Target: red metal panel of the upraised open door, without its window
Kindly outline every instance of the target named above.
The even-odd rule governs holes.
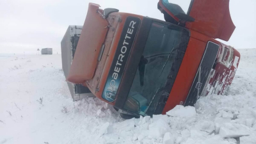
[[[229,0],[194,0],[189,13],[195,22],[187,22],[193,29],[211,38],[228,41],[236,26],[229,12]]]

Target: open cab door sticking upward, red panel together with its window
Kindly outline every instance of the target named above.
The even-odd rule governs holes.
[[[186,15],[172,0],[160,0],[159,6],[177,22],[185,21],[186,28],[211,38],[228,41],[236,28],[230,17],[229,0],[192,0]]]

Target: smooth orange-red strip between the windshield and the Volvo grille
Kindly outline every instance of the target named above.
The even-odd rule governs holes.
[[[173,84],[172,92],[164,106],[163,114],[173,109],[176,105],[179,105],[180,102],[185,102],[204,54],[205,46],[205,42],[196,40],[195,38],[189,39],[188,48]]]

